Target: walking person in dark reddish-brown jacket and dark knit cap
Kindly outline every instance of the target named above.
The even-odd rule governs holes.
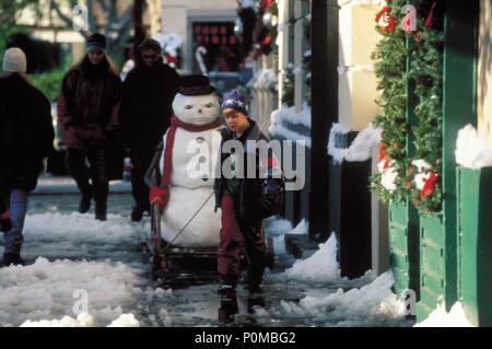
[[[95,219],[101,221],[106,220],[108,197],[107,139],[120,127],[121,93],[121,80],[105,49],[104,35],[89,37],[86,55],[67,72],[58,97],[58,119],[66,130],[67,166],[81,191],[79,212],[89,212],[94,198]]]

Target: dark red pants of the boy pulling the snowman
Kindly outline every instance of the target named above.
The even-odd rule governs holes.
[[[261,221],[254,224],[239,224],[234,200],[227,191],[222,196],[221,210],[219,274],[235,284],[241,272],[241,254],[244,253],[248,261],[248,284],[251,288],[258,287],[266,267],[265,234]]]

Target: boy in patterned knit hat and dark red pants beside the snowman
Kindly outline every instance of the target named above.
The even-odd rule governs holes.
[[[222,130],[221,174],[215,179],[215,207],[222,210],[218,260],[222,278],[220,294],[229,298],[234,294],[237,283],[242,253],[249,265],[249,292],[255,294],[259,291],[266,267],[261,221],[279,212],[283,177],[271,149],[260,151],[261,147],[268,147],[268,138],[247,117],[244,96],[234,90],[224,98],[222,109],[227,128]],[[224,148],[229,141],[241,143],[243,151],[235,147],[234,151],[225,152],[225,149],[232,149]],[[248,172],[250,164],[255,164],[256,168]]]

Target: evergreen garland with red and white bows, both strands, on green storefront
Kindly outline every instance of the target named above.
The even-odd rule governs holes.
[[[429,16],[436,1],[413,1],[418,13],[423,16],[418,19],[417,33],[407,34],[398,27],[405,16],[400,10],[406,3],[405,0],[388,3],[389,13],[395,19],[395,27],[383,31],[383,39],[373,54],[378,90],[382,91],[377,100],[380,110],[374,124],[383,128],[383,135],[380,171],[372,176],[371,189],[386,203],[410,199],[421,213],[427,214],[440,211],[443,199],[441,178],[444,34],[438,25],[443,13]],[[410,51],[406,46],[408,35],[412,35]],[[411,59],[409,71],[406,72],[408,55]],[[414,107],[415,125],[411,127],[406,118],[408,79],[414,81],[418,101]],[[413,156],[407,153],[406,143],[409,136],[414,139]],[[388,187],[388,181],[386,187],[382,184],[387,171],[393,175],[393,187]]]

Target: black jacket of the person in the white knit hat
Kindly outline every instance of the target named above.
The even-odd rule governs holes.
[[[51,106],[19,74],[0,79],[0,185],[33,190],[43,158],[52,152]]]

